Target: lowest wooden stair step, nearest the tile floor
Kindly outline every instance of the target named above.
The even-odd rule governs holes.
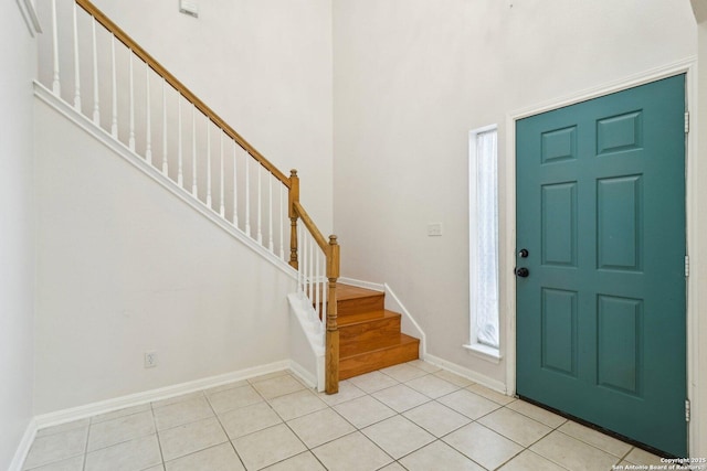
[[[400,334],[400,342],[339,358],[339,379],[418,360],[420,340]]]

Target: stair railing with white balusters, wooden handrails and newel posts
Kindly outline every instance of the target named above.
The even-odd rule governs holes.
[[[339,246],[302,206],[297,172],[281,172],[91,1],[59,7],[51,0],[39,12],[52,25],[40,38],[39,82],[283,261],[289,226],[298,288],[319,312],[326,307],[326,392],[336,393]],[[299,246],[312,260],[324,256],[325,282],[314,261],[299,263]]]

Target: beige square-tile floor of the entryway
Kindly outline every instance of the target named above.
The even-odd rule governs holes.
[[[421,361],[316,394],[283,371],[40,430],[33,471],[611,470],[659,458]]]

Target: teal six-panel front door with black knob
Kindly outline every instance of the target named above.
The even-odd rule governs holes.
[[[518,120],[517,393],[687,456],[685,76]]]

